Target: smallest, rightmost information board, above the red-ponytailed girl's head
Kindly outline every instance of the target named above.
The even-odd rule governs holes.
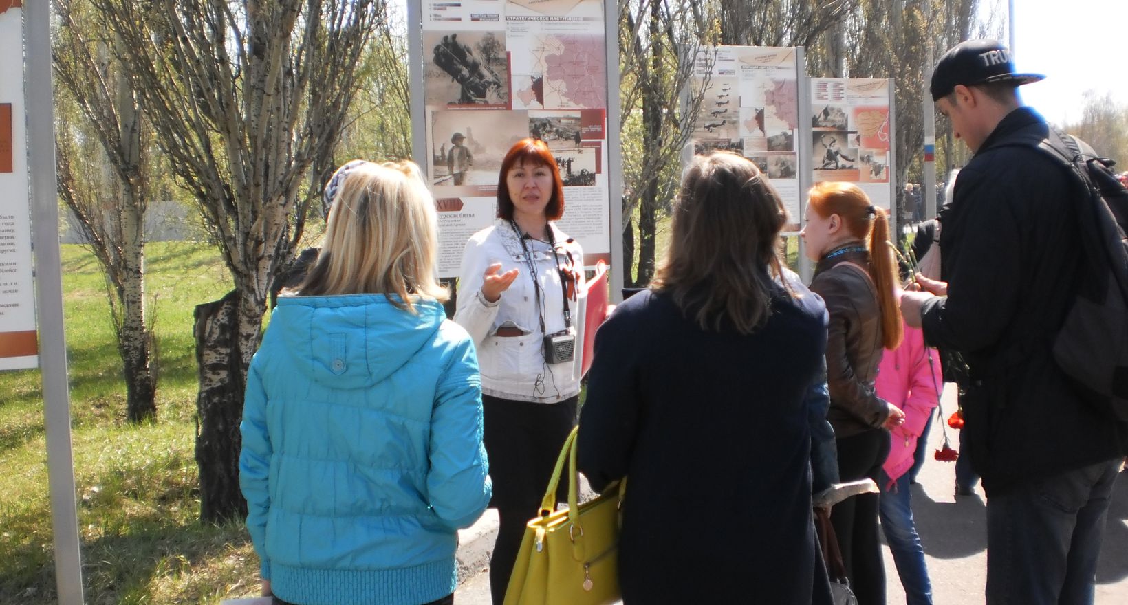
[[[854,183],[892,207],[892,94],[884,79],[811,78],[812,183]]]

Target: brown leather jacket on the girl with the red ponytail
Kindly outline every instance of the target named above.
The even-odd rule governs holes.
[[[843,438],[880,428],[889,406],[873,390],[881,346],[881,311],[867,273],[870,252],[861,243],[835,248],[814,267],[811,291],[822,296],[830,313],[827,328],[827,385],[830,411],[827,419],[835,437]]]

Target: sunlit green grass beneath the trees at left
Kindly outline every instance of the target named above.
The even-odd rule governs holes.
[[[156,422],[125,424],[125,388],[106,286],[94,257],[62,250],[74,480],[90,604],[211,604],[257,594],[241,523],[197,521],[194,305],[231,287],[218,252],[151,243],[148,292],[160,384]],[[0,603],[54,603],[38,371],[0,373]]]

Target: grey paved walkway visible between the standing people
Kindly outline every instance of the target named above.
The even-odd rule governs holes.
[[[943,403],[945,413],[955,410],[955,390],[951,385],[944,392]],[[949,429],[949,437],[954,447],[957,431]],[[931,456],[943,443],[936,421],[928,442]],[[935,605],[982,603],[987,581],[987,523],[982,491],[978,490],[973,497],[957,499],[953,493],[954,463],[932,457],[917,479],[920,484],[914,486],[913,510],[924,543]],[[493,545],[494,534],[491,533],[488,518],[478,525],[474,535],[479,537],[464,537],[459,549],[460,559],[464,552],[473,551],[473,557],[467,559],[473,558],[475,564],[468,566],[472,569],[467,569],[465,584],[456,593],[458,605],[490,605],[488,573],[484,569],[488,564],[487,552]],[[888,604],[898,605],[905,603],[905,593],[889,549],[884,551]],[[1128,605],[1128,471],[1122,472],[1117,481],[1096,582],[1096,605]]]

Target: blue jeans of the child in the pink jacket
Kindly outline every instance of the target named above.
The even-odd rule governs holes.
[[[889,475],[881,471],[881,531],[893,554],[897,575],[905,588],[907,605],[932,605],[932,582],[924,562],[924,546],[913,523],[909,474],[905,473],[890,488]]]

